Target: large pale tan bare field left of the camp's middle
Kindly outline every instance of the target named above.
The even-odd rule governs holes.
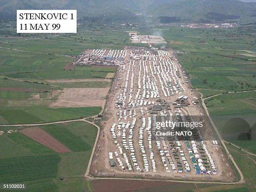
[[[95,107],[104,108],[110,88],[65,88],[51,108]]]

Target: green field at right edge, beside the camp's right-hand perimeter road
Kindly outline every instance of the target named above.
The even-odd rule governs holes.
[[[218,126],[223,138],[254,154],[256,153],[255,131],[252,134],[254,141],[238,141],[238,136],[247,133],[255,123],[256,102],[253,99],[255,97],[256,92],[229,93],[205,101],[212,120]],[[234,121],[234,118],[237,120]],[[237,123],[230,125],[228,123],[230,121]],[[239,126],[240,123],[243,123],[243,126]]]

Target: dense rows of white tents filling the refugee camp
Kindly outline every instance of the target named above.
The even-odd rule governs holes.
[[[126,54],[127,50],[110,50],[108,56],[116,58],[125,57]],[[115,95],[115,115],[118,123],[113,123],[110,127],[114,145],[118,150],[111,152],[111,158],[116,159],[123,171],[152,172],[153,170],[157,173],[159,168],[156,168],[155,159],[159,157],[153,152],[153,145],[156,145],[166,173],[189,174],[194,166],[196,174],[217,174],[216,166],[199,129],[193,129],[198,142],[192,137],[187,139],[192,140],[191,142],[185,141],[188,152],[177,136],[170,141],[156,134],[158,131],[156,120],[159,114],[162,122],[166,119],[188,121],[187,117],[191,117],[188,108],[178,107],[172,112],[169,103],[160,98],[160,95],[170,97],[186,92],[180,80],[179,69],[170,57],[170,53],[152,49],[132,49],[130,58],[130,61],[119,68],[119,71],[123,72],[123,77],[119,77],[118,80],[123,79],[123,84],[118,86],[117,89],[121,90]],[[188,100],[188,96],[182,95],[180,99]],[[150,114],[154,115],[149,116]],[[166,130],[165,127],[161,129]],[[134,134],[136,138],[133,137]],[[135,143],[136,148],[134,141],[138,142]]]

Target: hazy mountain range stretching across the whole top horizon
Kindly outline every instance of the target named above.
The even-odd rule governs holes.
[[[165,22],[215,22],[255,16],[256,0],[1,0],[0,20],[15,20],[17,9],[77,9],[78,17],[105,22],[138,19],[138,13]]]

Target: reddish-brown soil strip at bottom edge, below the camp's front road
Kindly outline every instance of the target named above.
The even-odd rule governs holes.
[[[93,180],[92,185],[95,192],[132,192],[135,190],[151,189],[154,187],[170,186],[175,182],[165,181],[140,181],[140,180],[116,180],[116,179],[99,179]],[[149,191],[151,191],[149,190]]]

